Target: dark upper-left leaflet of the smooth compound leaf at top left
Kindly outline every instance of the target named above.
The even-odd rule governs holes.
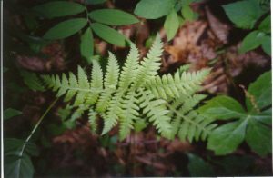
[[[69,1],[53,1],[33,7],[33,10],[45,18],[76,15],[83,12],[85,6]]]

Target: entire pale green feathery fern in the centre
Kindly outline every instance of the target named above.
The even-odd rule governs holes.
[[[136,45],[131,44],[121,72],[115,55],[109,53],[106,74],[103,75],[100,64],[94,61],[91,81],[80,66],[77,76],[69,73],[68,77],[62,74],[42,78],[49,88],[57,91],[57,97],[65,95],[65,101],[71,101],[76,96],[74,119],[87,110],[91,127],[96,131],[96,119],[103,118],[102,134],[119,124],[119,136],[123,140],[136,122],[142,120],[155,125],[169,139],[176,135],[181,140],[205,139],[216,124],[198,115],[194,108],[204,98],[196,92],[209,70],[159,76],[162,48],[157,36],[147,57],[139,63]]]

